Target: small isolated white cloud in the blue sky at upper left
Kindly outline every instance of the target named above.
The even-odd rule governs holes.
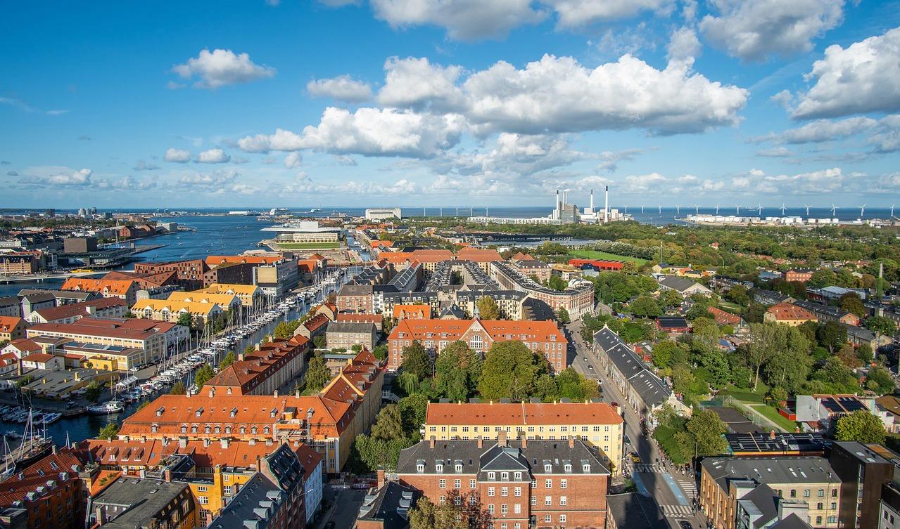
[[[275,75],[275,68],[254,64],[247,53],[236,54],[230,49],[202,49],[197,57],[173,66],[172,71],[184,79],[195,78],[194,88],[213,89]]]

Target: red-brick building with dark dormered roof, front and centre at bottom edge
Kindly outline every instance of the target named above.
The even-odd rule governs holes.
[[[574,438],[422,441],[401,451],[397,475],[436,504],[454,491],[476,493],[495,529],[604,527],[609,471],[601,461]]]

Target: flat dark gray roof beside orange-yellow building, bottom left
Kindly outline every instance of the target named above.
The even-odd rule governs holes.
[[[121,477],[92,500],[94,507],[106,509],[106,516],[115,516],[103,526],[146,526],[148,521],[166,505],[187,489],[187,484],[177,481],[159,481]]]

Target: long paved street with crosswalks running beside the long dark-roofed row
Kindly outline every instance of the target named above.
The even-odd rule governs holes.
[[[624,411],[625,434],[630,443],[626,443],[623,452],[626,458],[620,463],[625,464],[638,492],[656,500],[663,516],[669,520],[674,529],[679,529],[678,520],[688,520],[697,529],[706,527],[702,516],[695,516],[691,509],[691,503],[698,493],[692,477],[662,463],[664,458],[661,451],[651,439],[644,436],[637,413],[625,401],[616,385],[608,380],[590,346],[581,339],[581,322],[568,325],[567,331],[574,345],[574,349],[570,351],[570,365],[581,375],[598,380],[603,400],[618,402]],[[632,452],[640,456],[642,463],[635,464],[630,461],[627,455]]]

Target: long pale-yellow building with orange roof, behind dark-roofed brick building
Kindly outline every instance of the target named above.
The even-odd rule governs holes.
[[[622,461],[625,421],[606,402],[428,403],[423,439],[563,440],[575,436],[599,448],[616,475]]]

